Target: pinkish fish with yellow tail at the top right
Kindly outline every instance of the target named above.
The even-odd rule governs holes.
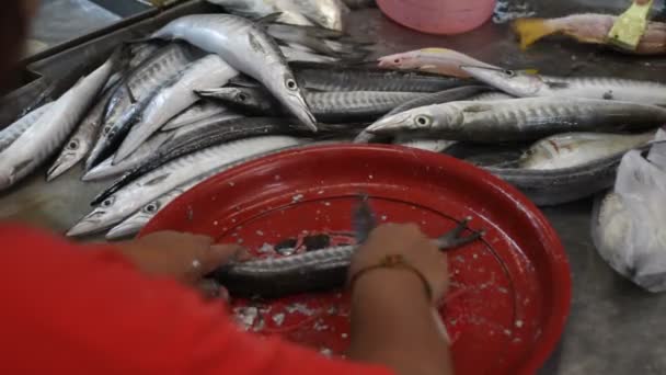
[[[527,48],[544,36],[562,34],[581,43],[612,46],[608,34],[617,16],[609,14],[572,14],[559,19],[519,19],[514,22],[514,31],[520,38],[520,46]],[[659,55],[666,53],[666,23],[651,21],[635,50],[618,48],[628,54]]]

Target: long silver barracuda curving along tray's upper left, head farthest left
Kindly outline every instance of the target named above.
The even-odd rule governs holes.
[[[292,137],[257,137],[210,147],[173,160],[106,197],[67,235],[82,236],[108,229],[152,200],[200,175],[209,174],[252,155],[298,144],[300,140]]]

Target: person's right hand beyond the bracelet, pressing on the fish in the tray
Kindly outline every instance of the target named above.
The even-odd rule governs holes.
[[[377,265],[387,255],[402,255],[428,282],[433,292],[433,303],[441,299],[448,289],[449,275],[447,258],[414,224],[386,224],[377,227],[352,260],[349,275]],[[393,269],[382,269],[393,270]],[[400,269],[395,269],[400,270]],[[371,271],[375,273],[377,271]],[[387,275],[387,272],[382,272]],[[367,277],[363,275],[361,279]],[[378,283],[378,287],[386,287]]]

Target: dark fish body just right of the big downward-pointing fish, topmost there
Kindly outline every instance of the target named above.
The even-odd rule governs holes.
[[[318,91],[438,92],[479,84],[472,79],[336,64],[291,63],[289,66],[305,88]]]

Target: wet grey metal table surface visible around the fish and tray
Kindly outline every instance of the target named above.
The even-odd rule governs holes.
[[[516,1],[518,2],[518,1]],[[559,0],[530,4],[539,15],[604,9],[615,11],[623,0]],[[657,9],[663,2],[657,1]],[[544,42],[520,52],[506,25],[487,23],[468,34],[444,37],[420,34],[383,18],[378,10],[351,15],[352,33],[377,42],[376,53],[420,47],[448,47],[491,64],[538,68],[544,73],[618,76],[666,80],[664,58],[622,56],[594,46]],[[105,183],[79,182],[78,168],[53,183],[44,172],[0,195],[0,219],[20,220],[64,231],[89,209],[91,197]],[[597,254],[589,234],[592,200],[543,209],[569,253],[574,297],[566,331],[541,374],[666,374],[666,295],[641,291],[616,274]],[[482,360],[482,359],[480,359]]]

